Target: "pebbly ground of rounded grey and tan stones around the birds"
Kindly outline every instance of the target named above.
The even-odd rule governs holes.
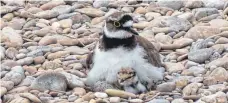
[[[1,3],[2,103],[227,103],[227,0]],[[84,60],[115,11],[130,13],[134,29],[162,55],[166,80],[155,90],[85,86]]]

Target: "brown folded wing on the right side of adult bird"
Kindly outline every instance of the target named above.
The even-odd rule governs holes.
[[[155,49],[154,45],[148,41],[147,39],[136,35],[136,40],[140,46],[142,46],[146,52],[146,55],[144,56],[145,59],[148,60],[151,64],[153,64],[156,67],[161,67],[161,59],[158,51]]]

